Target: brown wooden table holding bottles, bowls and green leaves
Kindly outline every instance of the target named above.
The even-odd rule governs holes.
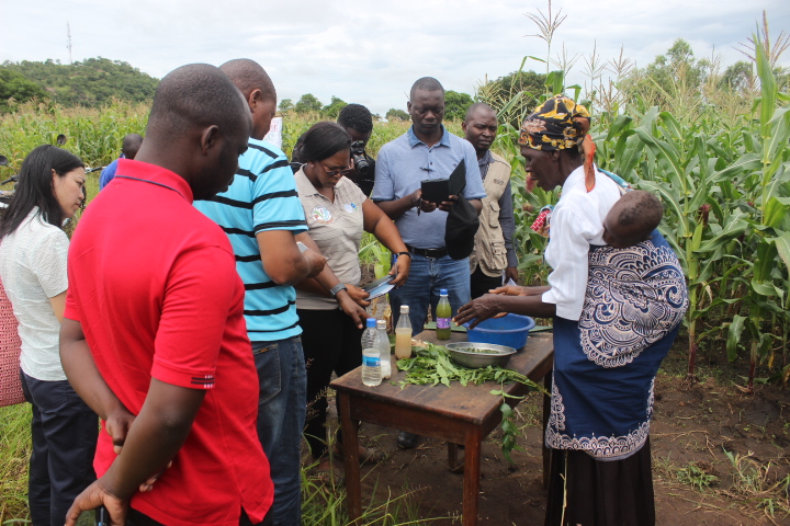
[[[435,331],[424,331],[415,338],[426,342],[437,342]],[[450,341],[464,342],[466,334],[453,332]],[[527,345],[510,358],[508,368],[521,373],[533,381],[545,378],[548,390],[551,390],[550,378],[553,359],[554,348],[551,334],[535,333],[531,334]],[[397,384],[406,374],[397,370],[394,356],[392,356],[392,378],[376,387],[362,385],[361,367],[330,384],[338,395],[340,424],[343,430],[343,456],[347,459],[346,485],[351,521],[356,521],[362,515],[357,441],[358,422],[363,421],[447,441],[450,445],[451,468],[455,464],[455,444],[463,444],[465,446],[463,525],[476,525],[481,445],[501,421],[499,411],[501,398],[489,393],[493,388],[492,384],[466,387],[458,382],[453,382],[452,387],[409,385],[400,389]],[[506,385],[505,388],[508,393],[515,396],[528,392],[527,387],[521,384]],[[516,399],[508,399],[508,403],[517,402]],[[544,426],[549,415],[548,407],[549,399],[545,398],[543,403]],[[548,456],[544,450],[544,483],[548,474],[546,465]]]

